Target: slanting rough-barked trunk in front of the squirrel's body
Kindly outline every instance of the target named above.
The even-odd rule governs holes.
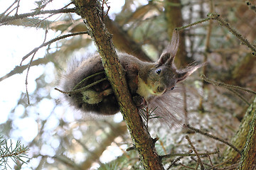
[[[137,108],[132,102],[127,89],[127,82],[124,79],[122,66],[119,64],[114,45],[112,44],[112,35],[108,33],[105,24],[102,22],[100,5],[94,0],[75,0],[75,6],[78,9],[78,14],[84,19],[85,25],[90,31],[90,35],[102,57],[107,78],[112,84],[120,111],[127,123],[134,147],[139,152],[144,169],[164,169],[161,159],[156,153],[154,140],[146,130],[137,112]]]

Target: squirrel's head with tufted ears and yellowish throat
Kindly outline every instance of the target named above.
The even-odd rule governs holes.
[[[144,95],[144,98],[161,96],[164,92],[174,89],[176,83],[186,79],[196,69],[203,66],[203,64],[197,64],[186,67],[185,69],[176,69],[174,57],[177,50],[178,33],[174,33],[170,45],[161,54],[159,60],[156,63],[150,64],[145,69],[148,74],[144,72],[142,75],[139,75],[145,82],[144,91],[148,93],[148,96]]]

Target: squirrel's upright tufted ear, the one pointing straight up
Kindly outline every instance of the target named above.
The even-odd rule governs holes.
[[[166,47],[166,50],[161,54],[157,66],[161,65],[170,65],[174,62],[174,57],[178,51],[178,33],[174,31],[172,38],[171,38],[171,43]]]

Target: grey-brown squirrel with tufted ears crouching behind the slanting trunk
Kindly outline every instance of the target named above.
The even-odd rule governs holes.
[[[118,54],[137,108],[143,108],[155,98],[161,98],[167,94],[167,91],[172,91],[178,82],[203,66],[203,64],[194,64],[184,69],[177,69],[174,64],[177,50],[178,33],[174,33],[171,43],[157,62],[143,62],[127,53]],[[93,85],[97,81],[98,83]],[[82,112],[100,115],[113,115],[119,112],[117,99],[110,82],[106,79],[98,54],[75,64],[65,73],[61,84],[63,91],[68,91],[64,95],[70,106],[75,106]],[[82,88],[87,85],[90,87],[83,90]]]

